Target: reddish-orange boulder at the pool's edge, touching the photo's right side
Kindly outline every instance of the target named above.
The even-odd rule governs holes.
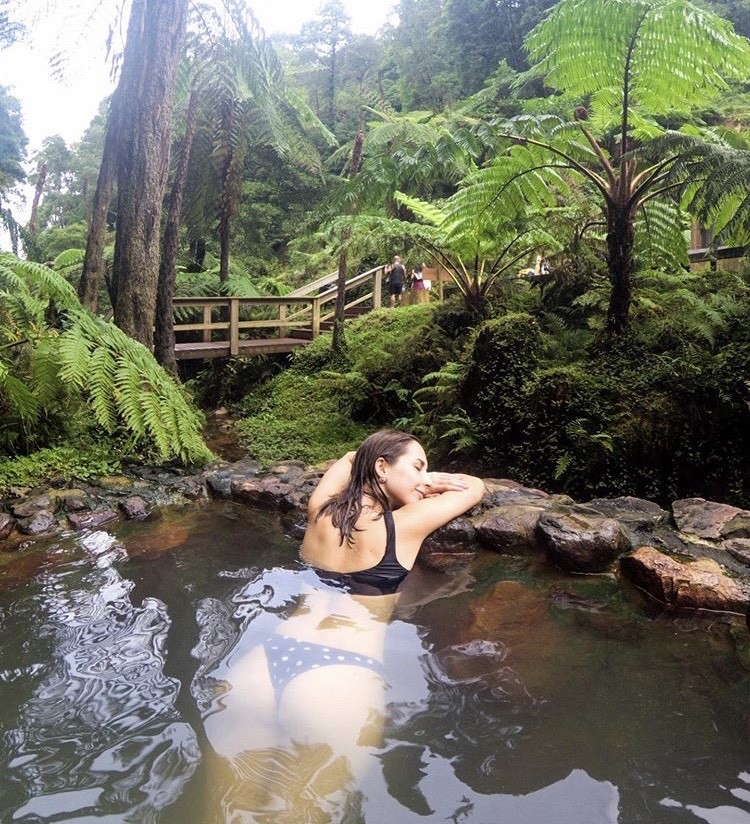
[[[675,607],[744,612],[748,595],[716,561],[682,562],[643,546],[620,559],[622,573],[657,600]]]

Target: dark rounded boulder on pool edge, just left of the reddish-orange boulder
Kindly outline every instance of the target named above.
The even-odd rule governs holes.
[[[551,560],[572,572],[603,572],[630,549],[619,522],[601,515],[548,511],[539,517],[536,529]]]

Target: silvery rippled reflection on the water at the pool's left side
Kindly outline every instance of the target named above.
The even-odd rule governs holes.
[[[101,537],[95,547],[111,553]],[[109,565],[87,577],[96,582],[89,589],[67,589],[59,577],[40,581],[44,598],[35,600],[46,611],[52,660],[21,705],[18,727],[2,737],[2,750],[12,753],[6,777],[25,788],[14,820],[155,820],[200,760],[176,710],[180,683],[164,674],[171,623],[164,602],[134,604],[133,582]]]

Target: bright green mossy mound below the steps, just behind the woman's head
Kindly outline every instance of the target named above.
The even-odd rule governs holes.
[[[451,342],[431,323],[429,305],[380,310],[347,329],[347,361],[321,335],[292,366],[250,392],[240,433],[251,455],[318,462],[357,443],[383,421],[412,410],[411,394],[443,362]]]

